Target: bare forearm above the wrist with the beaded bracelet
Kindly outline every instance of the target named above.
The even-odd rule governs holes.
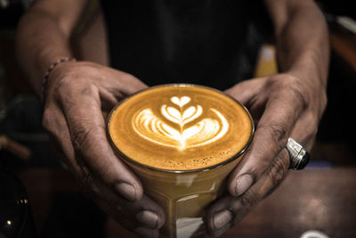
[[[37,94],[42,94],[44,72],[61,57],[71,56],[69,36],[45,12],[28,12],[18,28],[17,54],[22,70]]]

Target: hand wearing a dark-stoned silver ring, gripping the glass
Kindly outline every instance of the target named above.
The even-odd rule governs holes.
[[[258,123],[252,143],[231,173],[229,194],[207,211],[206,226],[213,236],[239,223],[287,176],[288,137],[312,149],[327,103],[325,86],[290,74],[247,80],[226,94],[245,104]]]

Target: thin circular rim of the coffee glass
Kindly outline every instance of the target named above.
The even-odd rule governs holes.
[[[124,152],[121,152],[118,148],[117,148],[117,145],[112,141],[111,139],[111,135],[109,133],[109,126],[110,126],[110,121],[111,121],[111,118],[112,118],[112,115],[114,114],[114,112],[117,110],[117,108],[122,104],[122,103],[125,103],[128,99],[130,99],[131,97],[133,97],[134,95],[136,94],[140,94],[142,92],[145,92],[145,91],[148,91],[148,90],[152,90],[152,89],[155,89],[155,88],[159,88],[159,87],[166,87],[166,86],[191,86],[191,87],[201,87],[201,88],[206,88],[206,89],[209,89],[209,90],[213,90],[217,93],[220,93],[220,94],[224,94],[223,91],[221,90],[218,90],[214,87],[210,87],[210,86],[201,86],[201,85],[195,85],[195,84],[163,84],[163,85],[158,85],[158,86],[150,86],[148,88],[145,88],[145,89],[142,89],[142,90],[139,90],[137,92],[135,92],[134,94],[130,94],[128,96],[126,96],[123,100],[121,100],[120,102],[118,102],[114,108],[110,111],[109,113],[109,116],[107,118],[107,123],[106,123],[106,132],[107,132],[107,137],[108,137],[108,140],[109,140],[109,144],[111,145],[111,148],[114,150],[114,152],[116,152],[118,154],[118,156],[120,157],[120,159],[124,160],[125,162],[128,162],[128,163],[134,163],[135,165],[137,166],[140,166],[142,168],[147,168],[147,169],[150,169],[150,170],[154,170],[154,171],[159,171],[159,172],[165,172],[165,173],[173,173],[173,174],[187,174],[187,173],[195,173],[195,172],[202,172],[202,171],[208,171],[208,170],[211,170],[211,169],[215,169],[215,168],[220,168],[220,167],[223,167],[224,165],[227,165],[229,163],[231,163],[233,160],[236,160],[239,158],[239,156],[241,154],[243,154],[244,152],[246,152],[248,146],[251,144],[252,142],[252,139],[255,135],[255,122],[254,122],[254,119],[252,118],[250,112],[247,110],[246,106],[243,105],[242,103],[239,103],[238,100],[236,100],[235,98],[231,97],[231,95],[229,94],[224,94],[225,96],[229,97],[231,100],[233,100],[235,103],[238,103],[239,106],[241,106],[243,108],[244,111],[247,112],[247,116],[249,117],[250,119],[250,122],[251,122],[251,132],[250,132],[250,136],[249,136],[249,139],[247,141],[247,144],[245,144],[245,146],[236,154],[234,154],[233,156],[231,156],[230,159],[228,160],[223,160],[222,162],[220,163],[217,163],[217,164],[214,164],[212,166],[209,166],[209,167],[205,167],[205,168],[196,168],[196,169],[187,169],[187,170],[173,170],[173,169],[166,169],[166,168],[156,168],[156,167],[151,167],[149,165],[146,165],[146,164],[143,164],[137,160],[134,160],[134,159],[131,159],[130,157],[126,156]]]

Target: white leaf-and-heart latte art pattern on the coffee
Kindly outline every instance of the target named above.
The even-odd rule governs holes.
[[[190,103],[189,96],[181,98],[174,96],[171,102],[177,108],[164,104],[160,110],[161,116],[178,127],[166,124],[148,108],[135,114],[132,121],[134,131],[152,143],[182,151],[186,148],[213,143],[223,137],[229,129],[228,121],[221,112],[214,108],[209,110],[214,112],[216,119],[201,119],[203,107],[200,105],[189,106],[184,110],[184,106]],[[187,126],[190,122],[195,123]]]

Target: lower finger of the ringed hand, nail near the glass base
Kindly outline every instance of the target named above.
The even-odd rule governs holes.
[[[282,150],[255,185],[240,197],[227,195],[216,201],[206,213],[208,233],[218,236],[239,223],[251,209],[255,208],[256,204],[280,185],[287,176],[288,165],[287,150]]]

